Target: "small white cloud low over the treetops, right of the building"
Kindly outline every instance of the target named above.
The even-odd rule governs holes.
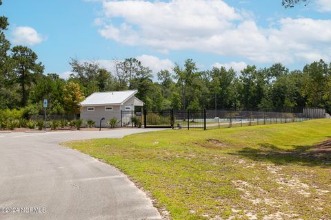
[[[141,62],[144,67],[150,67],[153,74],[156,75],[161,69],[172,71],[174,63],[169,59],[160,59],[157,56],[141,55],[137,56],[137,60]]]

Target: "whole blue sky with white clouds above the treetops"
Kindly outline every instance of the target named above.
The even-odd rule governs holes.
[[[70,58],[114,61],[137,58],[171,70],[192,58],[199,69],[283,63],[302,69],[330,62],[331,1],[283,8],[281,0],[3,0],[7,39],[26,45],[45,74],[68,78]]]

